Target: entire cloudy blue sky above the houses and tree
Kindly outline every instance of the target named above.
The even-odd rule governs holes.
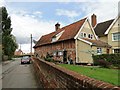
[[[17,43],[23,52],[29,53],[30,34],[38,41],[42,35],[55,31],[57,22],[64,27],[85,17],[90,19],[93,13],[97,15],[97,23],[116,18],[118,1],[0,0],[0,6],[7,8]]]

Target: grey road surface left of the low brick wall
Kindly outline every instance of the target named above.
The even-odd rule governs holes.
[[[2,88],[38,88],[32,64],[21,65],[20,59],[15,59],[3,65]]]

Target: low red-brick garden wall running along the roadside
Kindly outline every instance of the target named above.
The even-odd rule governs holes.
[[[89,90],[120,90],[120,88],[80,75],[44,60],[33,59],[33,66],[39,82],[44,88],[89,88]],[[105,90],[106,90],[105,89]]]

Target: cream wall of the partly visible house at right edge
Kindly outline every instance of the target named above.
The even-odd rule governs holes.
[[[119,20],[120,20],[120,18],[119,18]],[[117,20],[117,22],[113,25],[113,27],[110,29],[110,31],[108,33],[108,44],[112,46],[112,50],[115,48],[120,48],[120,45],[119,45],[120,41],[112,40],[112,34],[120,32],[119,29],[120,29],[120,26],[118,27],[118,20]]]

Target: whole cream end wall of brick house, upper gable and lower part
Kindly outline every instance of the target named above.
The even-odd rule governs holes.
[[[86,38],[88,38],[88,34],[92,34],[92,39],[96,39],[88,20],[85,22],[85,25],[78,36],[79,38],[81,38],[81,33],[86,33]],[[89,53],[91,50],[92,48],[89,44],[76,40],[76,63],[93,63],[92,54]]]

